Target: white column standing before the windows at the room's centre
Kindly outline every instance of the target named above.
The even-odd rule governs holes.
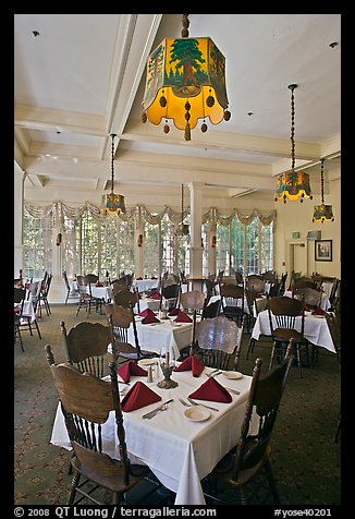
[[[203,248],[201,248],[201,225],[203,225],[203,190],[205,184],[193,182],[189,188],[191,207],[191,253],[189,253],[189,277],[203,277]]]

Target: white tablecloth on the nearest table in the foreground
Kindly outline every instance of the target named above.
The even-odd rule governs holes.
[[[157,403],[124,413],[128,455],[133,455],[132,462],[137,462],[138,458],[142,464],[148,464],[161,483],[176,493],[175,505],[205,505],[200,480],[236,444],[252,378],[244,376],[237,381],[229,379],[225,384],[227,379],[220,375],[218,382],[240,390],[241,395],[232,395],[231,403],[206,402],[220,411],[211,411],[209,420],[204,422],[189,421],[184,415],[187,408],[180,403],[179,397],[186,400],[191,393],[207,381],[206,375],[203,373],[195,378],[192,372],[174,373],[172,378],[179,383],[174,389],[159,389],[156,383],[161,378],[159,376],[148,384],[144,377],[131,377],[131,385],[139,379],[159,394],[162,401],[170,398],[174,401],[167,411],[158,412],[151,420],[143,420],[142,415],[155,409]],[[120,389],[122,387],[120,385]],[[105,451],[119,458],[112,413],[102,432]],[[50,442],[71,448],[60,406]]]

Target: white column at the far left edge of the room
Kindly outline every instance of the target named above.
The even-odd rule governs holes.
[[[14,262],[13,274],[14,278],[19,278],[20,269],[23,269],[23,203],[24,203],[24,181],[26,173],[14,162]],[[23,273],[24,275],[24,273]]]

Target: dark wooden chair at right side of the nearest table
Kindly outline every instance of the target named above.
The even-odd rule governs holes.
[[[281,364],[261,377],[262,361],[256,359],[244,421],[235,447],[203,481],[204,494],[212,503],[228,504],[225,496],[231,495],[225,492],[228,488],[236,494],[232,497],[234,505],[236,497],[241,505],[262,504],[259,500],[253,503],[253,499],[260,498],[265,484],[268,485],[268,494],[272,494],[274,504],[280,503],[271,467],[270,443],[292,360],[292,345],[289,345]],[[253,426],[252,420],[257,422]],[[221,483],[223,493],[220,492]]]

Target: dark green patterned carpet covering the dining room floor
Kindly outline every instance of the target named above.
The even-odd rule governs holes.
[[[23,333],[25,352],[14,346],[14,504],[64,505],[71,476],[69,451],[51,445],[50,435],[57,396],[48,369],[45,346],[51,345],[56,362],[65,361],[60,322],[70,329],[86,319],[76,317],[76,305],[52,305],[51,315],[39,321],[37,333]],[[106,317],[91,315],[91,322]],[[267,370],[270,341],[260,341],[245,360],[249,336],[244,335],[238,370],[252,374],[256,357]],[[272,464],[282,505],[341,504],[341,438],[333,443],[340,410],[340,367],[335,354],[320,348],[315,369],[304,369],[303,378],[292,367],[272,437]],[[163,491],[144,505],[158,504]],[[134,497],[135,498],[135,497]]]

